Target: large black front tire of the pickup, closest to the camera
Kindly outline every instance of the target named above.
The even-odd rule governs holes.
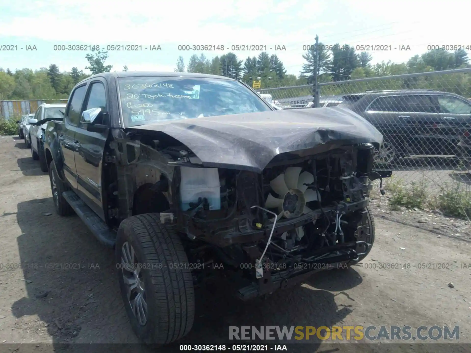
[[[131,249],[135,257],[128,263],[131,269],[142,268],[140,273],[123,268],[123,254]],[[136,336],[147,344],[166,345],[187,335],[195,316],[195,294],[187,254],[174,228],[162,225],[158,213],[129,217],[119,226],[115,254],[124,306]],[[139,279],[138,294],[128,296],[125,275],[134,283]],[[146,320],[141,322],[130,304],[130,298],[139,296],[146,302]]]

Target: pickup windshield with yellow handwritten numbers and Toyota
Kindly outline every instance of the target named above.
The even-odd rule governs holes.
[[[126,127],[272,110],[256,93],[232,80],[129,77],[119,78],[118,86]]]

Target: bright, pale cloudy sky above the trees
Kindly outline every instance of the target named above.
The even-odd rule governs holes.
[[[54,46],[142,46],[138,51],[108,51],[111,71],[173,71],[181,55],[234,52],[239,59],[260,51],[235,51],[234,45],[259,45],[276,54],[287,73],[299,75],[303,45],[319,41],[381,45],[372,63],[401,63],[430,45],[471,46],[468,2],[421,0],[15,0],[0,4],[0,67],[85,70],[89,51],[59,51]],[[442,5],[439,5],[442,4]],[[461,9],[461,10],[460,10]],[[151,46],[161,50],[150,50]],[[224,45],[225,50],[182,51],[179,45]],[[5,48],[16,50],[6,51]],[[30,46],[30,47],[28,47]],[[36,50],[26,48],[36,47]],[[282,50],[275,50],[279,46]],[[285,50],[283,50],[283,46]],[[399,50],[409,46],[410,50]],[[147,49],[146,49],[147,48]],[[272,49],[270,49],[272,48]],[[360,50],[359,50],[360,51]],[[471,54],[471,53],[470,53]],[[471,55],[470,55],[471,57]]]

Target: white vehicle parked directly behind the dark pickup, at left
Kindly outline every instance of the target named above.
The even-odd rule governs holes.
[[[46,156],[44,155],[44,129],[49,120],[61,120],[64,118],[66,104],[41,104],[34,115],[36,120],[29,129],[29,140],[31,145],[31,157],[39,160],[43,172],[48,171]]]

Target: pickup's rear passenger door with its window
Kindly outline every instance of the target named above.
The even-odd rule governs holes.
[[[69,99],[64,113],[64,124],[59,132],[59,143],[61,145],[64,176],[74,190],[77,189],[77,169],[75,168],[74,152],[77,149],[75,132],[80,122],[83,98],[87,90],[87,84],[75,88]]]

